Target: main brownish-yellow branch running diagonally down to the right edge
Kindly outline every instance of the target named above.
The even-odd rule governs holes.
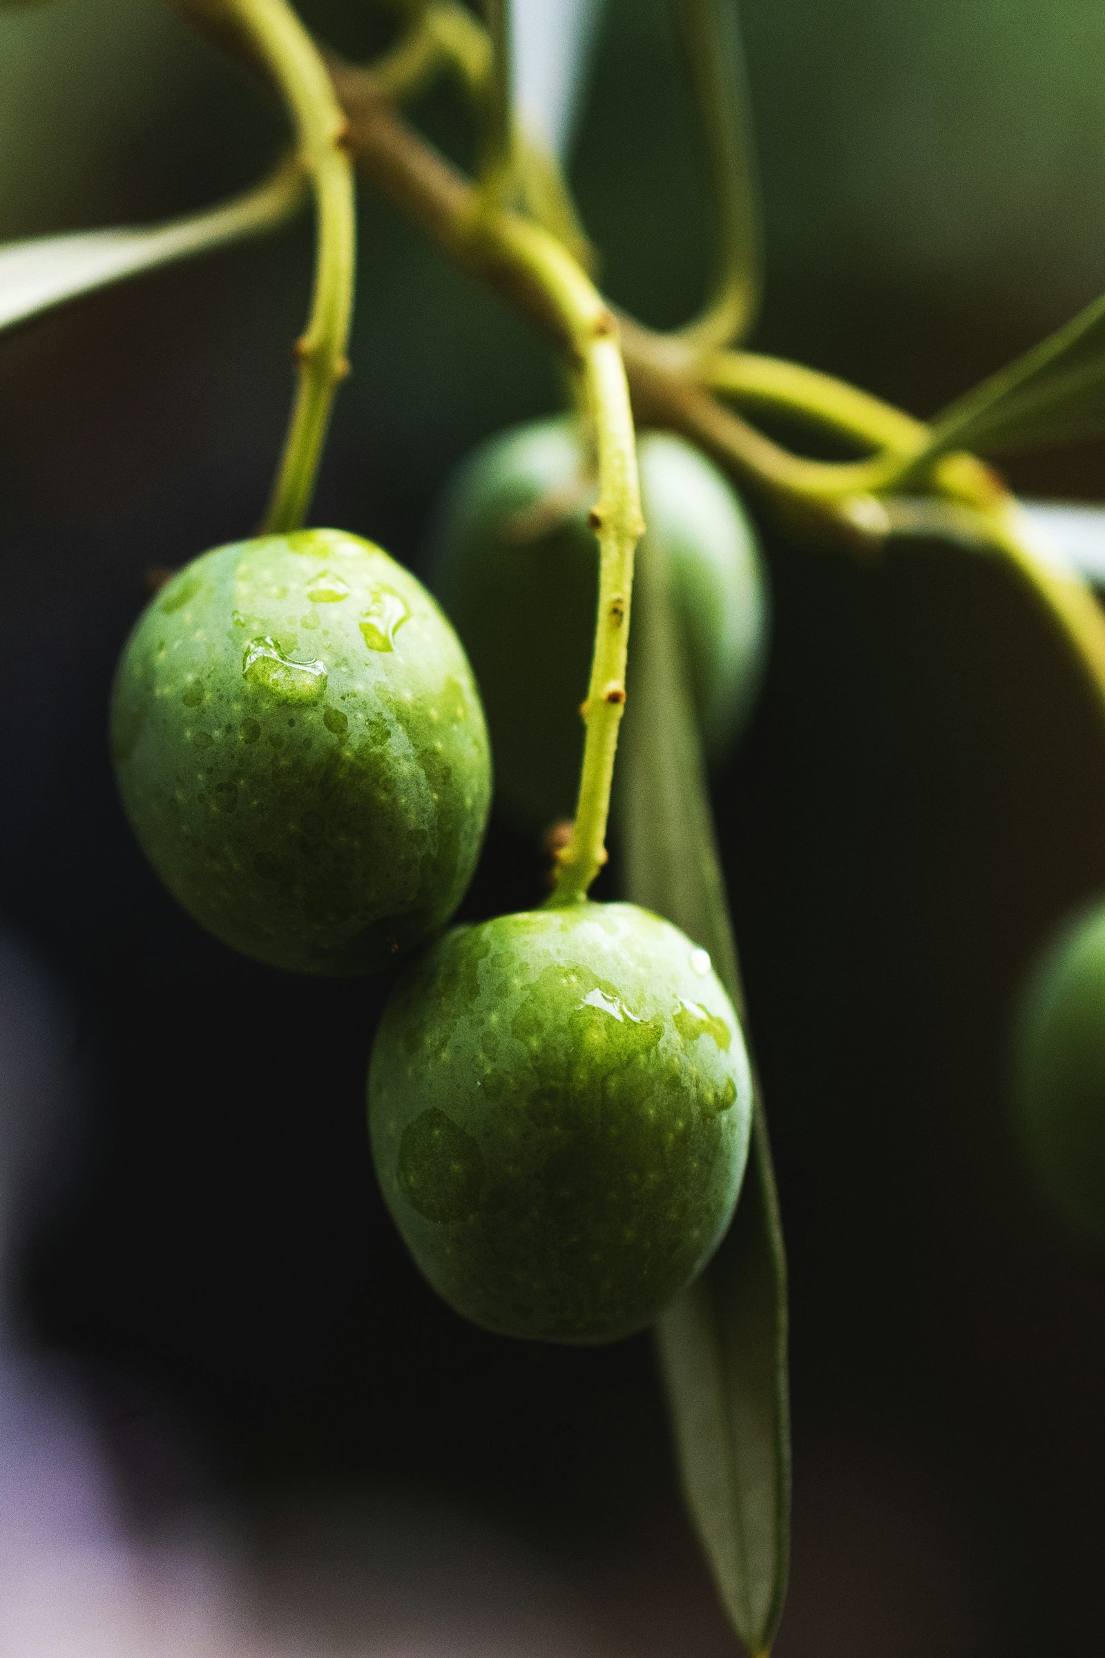
[[[346,71],[340,85],[353,118],[361,162],[374,184],[464,269],[528,315],[545,333],[567,343],[573,330],[565,323],[565,312],[573,313],[573,307],[553,303],[550,298],[550,285],[540,277],[542,257],[535,257],[537,229],[495,214],[484,219],[477,235],[474,227],[479,214],[474,211],[470,184],[373,95],[366,76]],[[510,225],[515,227],[514,232]],[[547,247],[548,239],[542,245]],[[572,262],[563,249],[555,242],[552,247],[570,267]],[[577,280],[586,284],[578,267],[572,269],[577,272]],[[601,310],[601,297],[590,284],[586,293],[588,303]],[[795,487],[795,468],[802,478],[802,468],[818,468],[820,463],[803,463],[770,443],[739,414],[724,408],[711,388],[727,391],[737,400],[746,398],[752,405],[759,401],[764,408],[789,411],[815,426],[852,438],[876,451],[880,466],[886,464],[883,451],[898,451],[898,456],[916,454],[923,446],[926,428],[919,421],[813,370],[779,363],[774,358],[721,351],[699,363],[684,342],[649,333],[628,320],[623,322],[623,335],[638,411],[643,410],[651,424],[679,431],[699,443],[742,484],[759,489],[780,516],[790,516],[794,509],[808,506],[808,517],[802,522],[813,534],[855,545],[855,517],[840,509],[840,484],[833,486],[832,494],[803,496],[802,489]],[[606,441],[610,443],[610,434]],[[840,471],[820,466],[818,482],[838,478]],[[1027,537],[1017,529],[1014,504],[1001,481],[974,456],[946,456],[929,476],[929,487],[939,487],[944,496],[943,501],[931,501],[933,507],[944,509],[949,519],[959,512],[964,532],[974,544],[989,542],[1032,585],[1054,625],[1062,632],[1080,671],[1093,683],[1105,718],[1105,617],[1083,584],[1054,575],[1042,567]],[[977,506],[972,506],[972,501],[977,501]],[[861,496],[860,504],[870,504],[873,509],[870,534],[861,539],[875,550],[893,531],[895,514],[903,504],[870,496]],[[916,511],[919,504],[923,502],[911,502],[910,511]],[[967,522],[972,526],[971,531]],[[578,849],[580,836],[573,844],[573,856]],[[570,879],[567,872],[562,875],[558,894],[568,892]],[[570,895],[575,892],[578,889]]]

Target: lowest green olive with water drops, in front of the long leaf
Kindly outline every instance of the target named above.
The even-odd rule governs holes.
[[[752,1084],[709,957],[631,904],[456,927],[384,1010],[373,1157],[414,1260],[502,1335],[649,1325],[732,1215]]]

